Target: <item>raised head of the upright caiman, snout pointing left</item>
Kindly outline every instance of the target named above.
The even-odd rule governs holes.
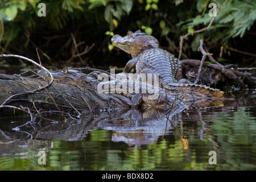
[[[142,33],[140,30],[134,33],[128,31],[127,35],[124,37],[114,35],[111,41],[116,47],[130,53],[133,58],[137,57],[146,49],[159,47],[159,42],[154,36]]]

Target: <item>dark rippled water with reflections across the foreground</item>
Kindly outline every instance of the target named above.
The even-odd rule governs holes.
[[[169,117],[161,110],[84,113],[18,131],[29,116],[0,118],[0,170],[255,170],[255,101],[251,90],[224,107]]]

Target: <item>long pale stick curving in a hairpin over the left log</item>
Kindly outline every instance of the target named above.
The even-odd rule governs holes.
[[[24,60],[30,61],[31,63],[37,65],[38,67],[40,67],[40,68],[42,68],[44,71],[46,71],[46,72],[49,74],[49,76],[51,77],[51,81],[50,81],[46,86],[44,86],[44,87],[42,87],[42,88],[30,90],[30,91],[28,91],[28,92],[14,94],[13,96],[8,97],[8,98],[1,104],[1,106],[5,105],[6,102],[8,102],[8,101],[9,101],[11,98],[13,98],[13,97],[21,96],[21,95],[23,95],[23,94],[33,93],[33,92],[42,90],[42,89],[44,89],[44,88],[47,88],[47,87],[48,87],[49,85],[51,85],[52,82],[53,82],[52,73],[49,72],[48,69],[44,68],[42,65],[36,63],[35,61],[33,61],[33,60],[31,60],[31,59],[28,59],[27,57],[19,56],[19,55],[0,55],[0,57],[18,57],[18,58],[20,58],[20,59],[24,59]]]

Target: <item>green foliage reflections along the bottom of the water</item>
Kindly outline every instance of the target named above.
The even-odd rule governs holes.
[[[143,146],[112,142],[112,130],[92,130],[77,141],[55,141],[38,164],[38,151],[2,156],[1,170],[255,170],[256,119],[245,108],[182,121],[174,133]],[[210,165],[209,151],[217,164]],[[17,151],[17,154],[19,152]]]

